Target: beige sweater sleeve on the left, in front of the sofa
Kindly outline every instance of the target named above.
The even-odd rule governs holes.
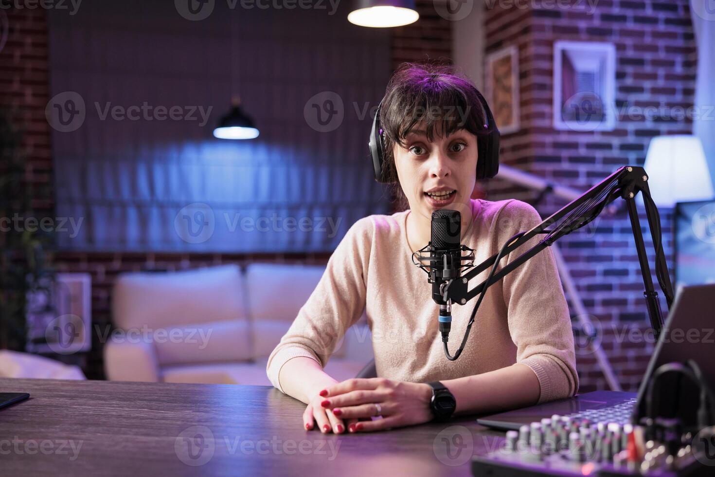
[[[305,356],[325,368],[346,330],[360,319],[365,309],[373,230],[370,217],[350,227],[330,256],[315,290],[270,353],[266,373],[277,389],[283,391],[278,376],[288,360]]]

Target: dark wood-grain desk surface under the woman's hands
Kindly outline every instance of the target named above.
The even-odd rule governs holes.
[[[470,476],[501,434],[474,418],[380,433],[302,428],[268,386],[0,379],[4,476]]]

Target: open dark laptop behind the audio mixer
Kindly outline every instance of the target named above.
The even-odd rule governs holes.
[[[649,378],[654,371],[665,363],[686,359],[694,360],[699,365],[704,379],[711,388],[715,389],[713,297],[715,297],[715,284],[678,288],[638,393],[609,390],[583,393],[573,398],[487,415],[478,418],[477,423],[505,431],[518,431],[524,424],[539,422],[542,418],[551,418],[554,414],[571,418],[588,418],[592,423],[606,422],[621,425],[633,423],[646,412],[644,395],[648,390]],[[677,385],[681,388],[691,386],[692,389],[681,393],[681,396],[685,397],[679,398],[679,402],[664,402],[663,405],[673,410],[690,409],[694,412],[698,405],[695,385],[681,381],[678,375],[668,378],[671,379],[671,383],[662,385],[661,389],[668,389],[669,385]],[[689,402],[684,402],[685,400]]]

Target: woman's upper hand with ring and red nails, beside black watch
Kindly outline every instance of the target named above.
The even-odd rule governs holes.
[[[385,378],[355,378],[320,392],[321,405],[348,423],[349,432],[381,431],[432,420],[428,384],[406,383]],[[375,421],[359,421],[382,415]]]

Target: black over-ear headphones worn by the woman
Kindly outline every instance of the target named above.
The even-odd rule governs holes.
[[[479,97],[486,116],[487,124],[484,124],[484,129],[488,132],[488,134],[478,136],[477,139],[477,152],[479,154],[477,160],[477,179],[490,179],[499,172],[500,134],[486,100],[478,91],[477,96]],[[375,180],[377,182],[388,182],[385,177],[385,169],[383,168],[383,164],[385,164],[385,132],[383,128],[380,127],[380,110],[383,107],[383,101],[385,101],[385,98],[380,100],[380,104],[378,105],[378,111],[375,113],[375,119],[373,119],[373,129],[370,131],[370,141],[368,142],[370,155],[373,157]]]

